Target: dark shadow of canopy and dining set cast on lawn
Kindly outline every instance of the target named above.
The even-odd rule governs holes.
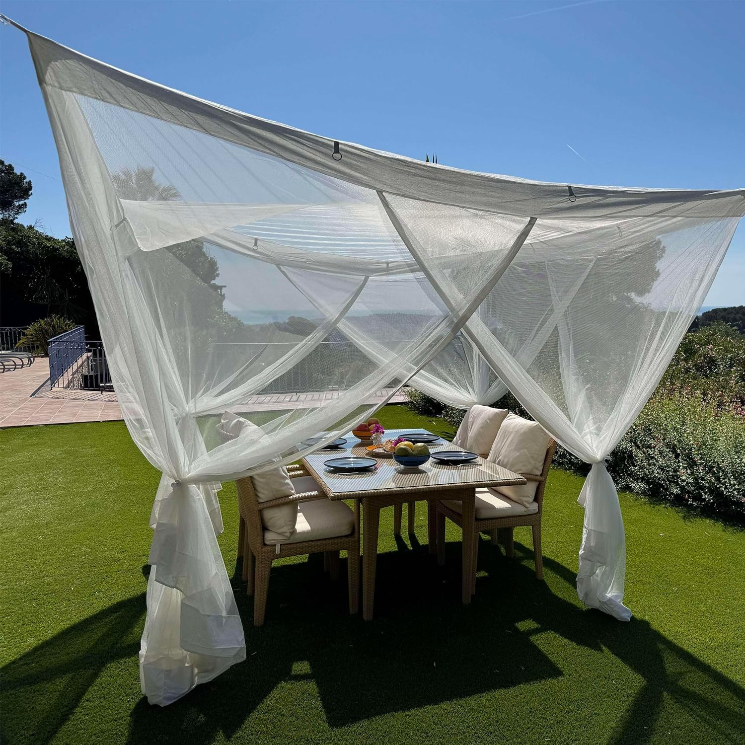
[[[376,618],[370,623],[349,617],[344,575],[332,582],[323,574],[322,557],[314,556],[273,568],[267,625],[256,629],[249,621],[253,601],[236,566],[246,662],[167,708],[139,700],[130,714],[130,743],[231,738],[270,696],[284,702],[275,703],[282,708],[271,720],[297,718],[292,694],[282,685],[294,681],[314,682],[327,723],[339,727],[555,679],[563,674],[561,661],[542,652],[536,643],[542,633],[609,650],[644,679],[609,743],[649,742],[665,698],[700,722],[711,735],[703,741],[742,741],[742,688],[646,621],[619,624],[554,594],[536,580],[532,551],[522,545],[516,545],[514,562],[498,548],[481,545],[478,595],[467,607],[460,604],[459,544],[447,545],[444,568],[426,546],[397,548],[378,557]],[[545,569],[573,588],[575,576],[567,568],[545,559]],[[139,633],[144,609],[144,595],[124,600],[7,665],[7,741],[48,742],[106,665],[136,658],[139,644],[121,639]],[[122,674],[130,674],[129,667]],[[592,685],[592,677],[588,681]]]

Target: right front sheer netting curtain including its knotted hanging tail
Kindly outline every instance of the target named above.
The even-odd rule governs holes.
[[[557,223],[542,231],[539,221],[521,261],[467,326],[535,419],[592,463],[579,500],[577,592],[621,620],[631,615],[624,526],[604,459],[665,372],[736,224],[644,218],[610,231]]]

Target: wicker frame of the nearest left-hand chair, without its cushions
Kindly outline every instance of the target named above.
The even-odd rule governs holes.
[[[301,466],[288,466],[291,478],[308,476]],[[332,580],[339,573],[339,552],[347,552],[347,573],[349,580],[349,613],[358,611],[360,595],[360,507],[355,501],[354,529],[346,536],[335,536],[320,540],[296,541],[287,543],[264,543],[264,527],[261,524],[261,510],[279,507],[282,504],[328,499],[319,490],[299,492],[290,497],[280,497],[259,502],[250,478],[235,482],[238,486],[238,511],[241,515],[238,535],[238,556],[243,557],[243,578],[247,580],[248,595],[255,595],[253,604],[253,625],[264,624],[269,589],[269,573],[274,559],[302,556],[303,554],[324,554],[324,570]]]

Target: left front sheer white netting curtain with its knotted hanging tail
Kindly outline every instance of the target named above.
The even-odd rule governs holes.
[[[164,472],[140,659],[143,691],[163,705],[245,656],[215,541],[216,482],[295,460],[313,435],[321,446],[349,431],[462,326],[468,288],[453,314],[375,191],[142,112],[53,95],[77,112],[60,126],[98,180],[77,190],[87,214],[75,238],[93,281],[115,279],[119,305],[97,304],[107,346],[125,320],[132,329],[113,356],[137,408],[124,408],[127,425]],[[264,405],[272,394],[294,404]],[[256,426],[225,442],[226,410]]]

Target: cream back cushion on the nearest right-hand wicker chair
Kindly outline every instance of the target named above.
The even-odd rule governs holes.
[[[546,450],[551,438],[538,422],[508,414],[495,437],[487,460],[498,463],[510,471],[541,475]],[[525,507],[533,502],[538,489],[537,481],[520,486],[498,486],[498,492]]]

